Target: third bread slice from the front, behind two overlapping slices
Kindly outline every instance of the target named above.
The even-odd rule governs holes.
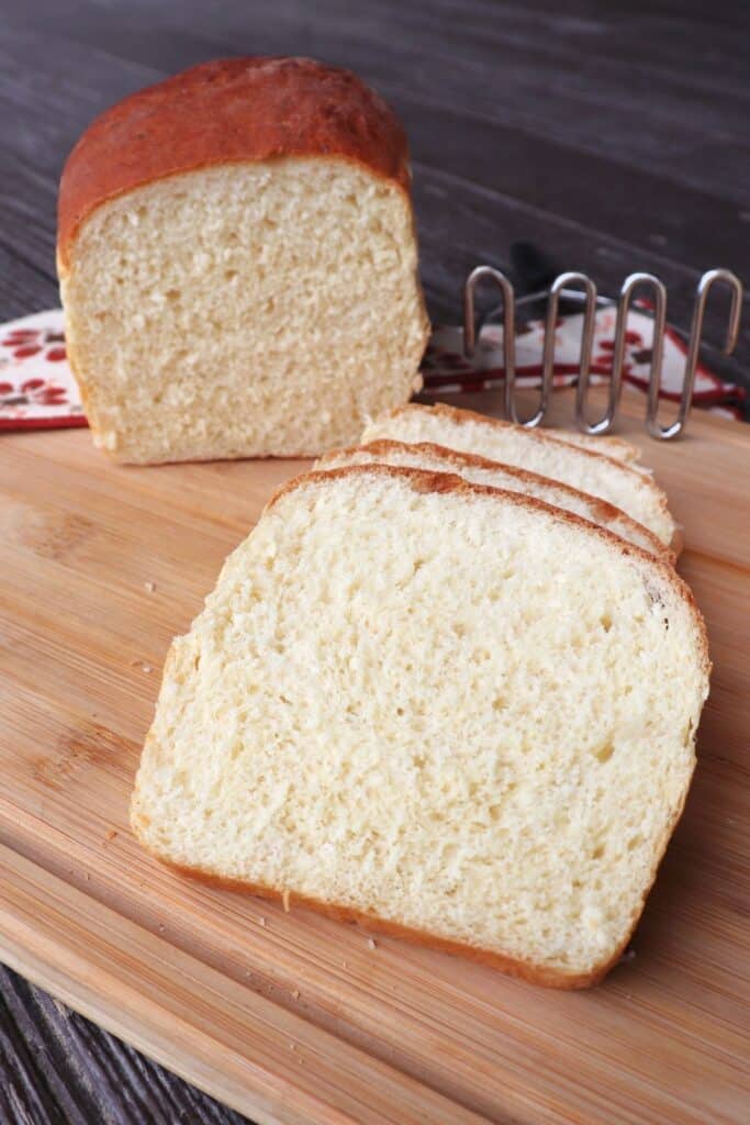
[[[408,443],[434,442],[530,469],[614,504],[666,546],[677,546],[677,525],[667,508],[667,497],[650,474],[590,449],[562,442],[544,430],[525,430],[443,403],[435,406],[413,404],[370,422],[361,442],[381,438]]]

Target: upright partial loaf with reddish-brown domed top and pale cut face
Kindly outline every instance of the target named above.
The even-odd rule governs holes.
[[[69,356],[119,461],[317,454],[419,385],[406,136],[347,71],[232,58],[126,98],[58,218]]]

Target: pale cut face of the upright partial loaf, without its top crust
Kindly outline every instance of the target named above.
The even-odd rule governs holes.
[[[116,460],[315,456],[419,385],[412,206],[351,161],[161,179],[99,206],[70,259],[71,361]]]

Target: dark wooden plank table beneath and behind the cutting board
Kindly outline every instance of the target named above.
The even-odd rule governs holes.
[[[106,106],[201,60],[359,71],[412,141],[422,274],[455,321],[479,261],[528,238],[602,291],[634,269],[686,324],[701,271],[750,281],[750,6],[706,0],[6,0],[0,321],[58,304],[62,162]],[[721,303],[708,333],[722,338]],[[726,375],[750,386],[746,306]],[[214,1102],[0,966],[0,1122],[228,1123]]]

